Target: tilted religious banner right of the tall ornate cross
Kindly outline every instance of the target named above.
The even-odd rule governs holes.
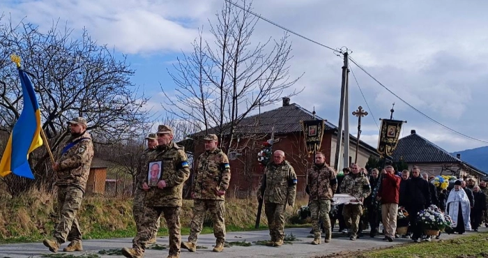
[[[397,147],[400,131],[404,121],[381,119],[378,138],[378,153],[391,156]]]

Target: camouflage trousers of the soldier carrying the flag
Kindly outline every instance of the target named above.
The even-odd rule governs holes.
[[[75,186],[58,187],[59,222],[54,229],[54,238],[59,243],[68,241],[82,241],[82,231],[79,228],[76,213],[82,206],[83,191]]]

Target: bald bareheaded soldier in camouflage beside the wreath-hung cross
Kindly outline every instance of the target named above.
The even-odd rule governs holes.
[[[261,190],[257,192],[258,200],[264,198],[264,213],[268,219],[271,241],[268,246],[279,247],[284,238],[284,208],[293,206],[296,196],[296,174],[283,151],[273,153],[273,162],[269,162],[264,169],[264,176],[259,182]]]

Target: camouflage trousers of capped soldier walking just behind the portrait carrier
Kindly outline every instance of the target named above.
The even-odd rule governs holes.
[[[204,225],[205,212],[209,211],[213,222],[213,236],[217,238],[215,243],[225,241],[225,206],[224,201],[215,199],[195,199],[193,204],[193,218],[190,224],[191,231],[188,241],[197,243],[198,235]]]

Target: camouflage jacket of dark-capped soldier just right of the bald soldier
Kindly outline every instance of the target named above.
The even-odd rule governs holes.
[[[336,172],[326,164],[308,169],[309,199],[332,199],[337,190]]]

